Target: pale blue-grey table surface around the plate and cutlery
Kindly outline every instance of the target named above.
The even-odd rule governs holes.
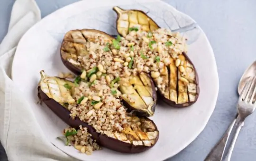
[[[36,1],[42,17],[45,17],[78,0]],[[235,117],[238,81],[244,70],[256,60],[256,0],[164,1],[195,19],[208,36],[217,62],[219,96],[207,126],[187,148],[167,160],[203,161]],[[14,0],[0,0],[0,42],[7,33],[13,3]],[[232,161],[256,160],[255,125],[256,113],[246,120]],[[6,160],[3,151],[0,152],[0,161]]]

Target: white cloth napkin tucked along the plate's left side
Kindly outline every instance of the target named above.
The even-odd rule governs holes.
[[[11,80],[16,46],[40,19],[35,0],[15,1],[8,34],[0,44],[0,141],[9,161],[76,161],[46,139],[29,103]]]

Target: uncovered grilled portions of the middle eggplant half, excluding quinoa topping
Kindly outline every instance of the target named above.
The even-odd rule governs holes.
[[[82,63],[79,62],[78,57],[85,57],[89,54],[87,50],[87,43],[95,43],[97,37],[101,37],[106,43],[113,43],[113,37],[98,30],[72,30],[64,36],[64,41],[61,46],[61,58],[64,65],[77,75],[82,74]],[[95,51],[97,52],[97,51]],[[90,57],[88,57],[88,61]],[[86,59],[87,61],[87,59]],[[98,66],[87,70],[86,77],[90,79],[93,74],[102,71]],[[82,76],[85,77],[85,76]],[[127,105],[129,110],[135,112],[138,116],[149,117],[155,113],[155,106],[157,101],[157,94],[155,91],[155,84],[151,77],[146,73],[140,73],[138,76],[129,76],[128,78],[121,77],[119,90],[124,94],[123,102]],[[114,84],[112,80],[110,85]]]

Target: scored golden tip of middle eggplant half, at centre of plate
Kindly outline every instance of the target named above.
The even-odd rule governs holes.
[[[123,100],[126,106],[137,116],[154,115],[157,95],[154,83],[146,73],[121,79],[119,89],[125,95]]]

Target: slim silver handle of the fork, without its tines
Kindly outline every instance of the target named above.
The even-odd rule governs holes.
[[[236,141],[237,141],[237,138],[239,135],[239,132],[243,126],[244,126],[244,120],[241,120],[240,117],[238,116],[238,127],[236,129],[235,135],[232,138],[232,141],[231,141],[231,144],[229,147],[229,152],[227,153],[227,155],[223,161],[230,161],[233,149],[235,147],[235,144],[236,144]]]

